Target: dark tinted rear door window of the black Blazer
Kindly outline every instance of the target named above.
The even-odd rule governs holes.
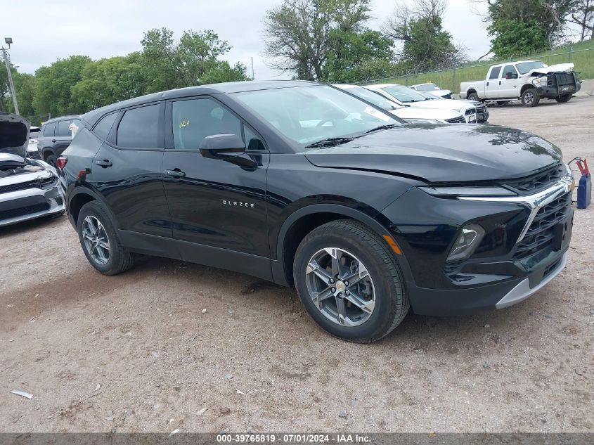
[[[157,148],[160,104],[134,108],[124,113],[117,127],[117,145],[129,148]]]

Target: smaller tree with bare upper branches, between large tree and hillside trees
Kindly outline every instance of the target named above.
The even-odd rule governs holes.
[[[443,28],[441,15],[445,10],[446,0],[419,0],[414,8],[406,2],[396,4],[383,29],[401,44],[399,59],[408,70],[451,67],[465,59],[463,51],[453,44],[451,34]]]

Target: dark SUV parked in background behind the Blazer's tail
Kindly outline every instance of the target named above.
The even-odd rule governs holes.
[[[37,140],[39,159],[57,167],[56,160],[72,141],[72,128],[80,126],[80,116],[63,116],[50,119],[41,126]]]

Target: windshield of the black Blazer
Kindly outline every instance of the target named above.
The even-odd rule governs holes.
[[[284,136],[303,144],[360,135],[380,125],[401,124],[387,113],[327,85],[245,91],[234,96]]]

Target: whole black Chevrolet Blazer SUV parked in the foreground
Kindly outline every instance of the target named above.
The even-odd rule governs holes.
[[[563,269],[572,175],[491,125],[409,125],[332,86],[237,82],[82,116],[58,160],[72,226],[107,275],[151,254],[295,285],[346,340],[406,315],[515,304]]]

